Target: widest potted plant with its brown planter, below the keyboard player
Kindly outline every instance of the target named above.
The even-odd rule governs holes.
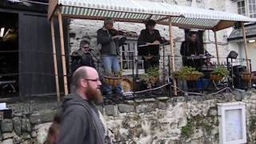
[[[181,70],[174,72],[174,78],[186,81],[197,81],[203,76],[204,74],[202,74],[202,72],[199,72],[194,67],[190,66],[184,66]]]

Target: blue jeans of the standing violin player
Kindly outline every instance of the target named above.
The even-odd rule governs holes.
[[[120,72],[119,60],[118,60],[118,56],[116,55],[102,56],[102,64],[103,64],[105,74],[111,74],[112,71],[114,72],[114,74],[118,74]],[[112,86],[106,85],[103,87],[106,90],[107,94],[112,93]],[[116,89],[116,93],[118,94],[122,93],[121,85],[118,85],[115,89]]]

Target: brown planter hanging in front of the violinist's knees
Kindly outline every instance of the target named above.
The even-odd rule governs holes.
[[[114,73],[106,74],[106,75],[103,75],[103,78],[106,84],[116,87],[122,81],[122,72],[119,72],[118,74],[114,74]]]

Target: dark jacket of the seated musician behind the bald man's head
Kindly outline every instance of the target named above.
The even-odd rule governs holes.
[[[95,68],[94,58],[92,54],[83,53],[82,50],[76,50],[71,54],[70,69],[72,73],[80,66],[90,66]]]

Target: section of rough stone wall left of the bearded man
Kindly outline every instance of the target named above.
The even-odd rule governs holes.
[[[43,143],[59,104],[54,100],[10,102],[11,119],[1,120],[0,143]]]

